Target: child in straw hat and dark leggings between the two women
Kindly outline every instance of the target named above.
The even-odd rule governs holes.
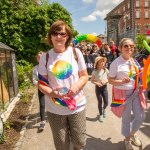
[[[95,84],[95,93],[98,100],[99,121],[103,122],[106,117],[106,108],[108,106],[108,69],[106,68],[106,57],[96,57],[94,68],[92,72],[91,82]]]

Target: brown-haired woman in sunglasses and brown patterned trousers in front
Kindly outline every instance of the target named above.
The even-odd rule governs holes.
[[[63,21],[51,25],[48,40],[53,48],[40,59],[39,89],[46,95],[54,144],[56,150],[68,150],[71,140],[74,149],[81,150],[86,144],[86,99],[82,89],[88,74],[84,58],[79,49],[69,46],[71,30]]]

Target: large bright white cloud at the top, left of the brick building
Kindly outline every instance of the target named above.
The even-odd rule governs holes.
[[[92,0],[83,0],[83,2],[92,1]],[[121,3],[123,0],[105,0],[102,2],[102,0],[96,1],[95,10],[88,16],[83,17],[82,21],[96,21],[97,17],[101,17],[104,19],[106,17],[106,14],[109,13],[114,7],[116,7],[119,3]]]

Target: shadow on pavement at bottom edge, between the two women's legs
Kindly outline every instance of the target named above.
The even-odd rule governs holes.
[[[103,140],[87,134],[87,141],[84,150],[125,150],[123,141],[112,143],[110,140],[111,138]]]

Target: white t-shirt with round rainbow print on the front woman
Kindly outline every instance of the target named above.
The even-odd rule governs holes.
[[[48,75],[49,86],[52,89],[67,88],[78,81],[78,71],[85,70],[86,65],[83,55],[79,49],[76,49],[78,56],[78,62],[74,58],[72,47],[68,47],[63,53],[56,53],[53,49],[48,51],[49,59],[46,64],[46,54],[43,54],[39,63],[39,74]],[[80,98],[81,97],[81,98]],[[45,97],[47,111],[60,115],[73,114],[75,112],[82,111],[85,107],[86,99],[83,96],[83,91],[79,91],[74,96],[74,99],[78,99],[76,102],[77,108],[70,110],[68,107],[58,105],[54,103],[52,98]],[[62,101],[61,101],[62,102]]]

